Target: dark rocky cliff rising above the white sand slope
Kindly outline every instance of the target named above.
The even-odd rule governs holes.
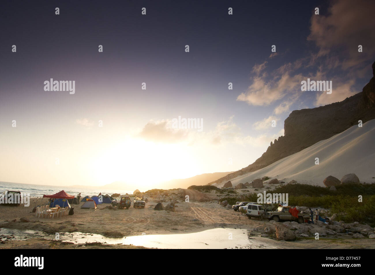
[[[293,111],[284,122],[285,135],[271,142],[267,151],[248,167],[228,174],[208,183],[220,183],[242,174],[267,167],[279,159],[293,155],[321,140],[339,134],[359,120],[365,123],[375,119],[375,62],[372,64],[370,82],[357,93],[344,101],[329,105]]]

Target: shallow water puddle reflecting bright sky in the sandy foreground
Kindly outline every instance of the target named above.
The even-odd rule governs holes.
[[[261,237],[250,236],[249,230],[233,228],[214,228],[195,233],[138,235],[123,238],[108,238],[99,234],[87,233],[59,233],[62,242],[72,242],[77,245],[85,243],[105,243],[145,246],[149,248],[174,248],[174,249],[237,249],[237,248],[276,248],[269,240]],[[55,240],[56,235],[46,234],[33,230],[17,230],[1,228],[0,235],[14,235],[15,240],[39,238]]]

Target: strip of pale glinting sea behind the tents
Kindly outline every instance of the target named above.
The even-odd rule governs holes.
[[[77,197],[81,193],[81,197],[93,196],[102,193],[103,195],[112,195],[114,193],[132,194],[130,190],[112,190],[102,189],[100,186],[87,186],[85,188],[69,187],[69,186],[53,186],[53,185],[38,185],[27,183],[14,183],[14,182],[0,182],[0,192],[5,190],[20,191],[21,194],[30,194],[30,197],[43,197],[43,195],[53,195],[57,192],[64,190],[69,195]]]

